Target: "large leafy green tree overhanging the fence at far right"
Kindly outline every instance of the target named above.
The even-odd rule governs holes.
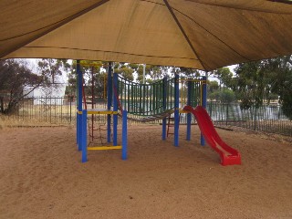
[[[242,109],[259,107],[277,97],[283,109],[292,109],[292,56],[239,64],[234,77],[227,68],[217,69],[213,73],[224,86],[235,92]],[[292,113],[286,114],[291,119]]]

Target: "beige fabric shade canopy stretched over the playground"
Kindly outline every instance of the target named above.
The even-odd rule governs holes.
[[[0,8],[0,58],[212,70],[292,54],[285,0],[0,0]]]

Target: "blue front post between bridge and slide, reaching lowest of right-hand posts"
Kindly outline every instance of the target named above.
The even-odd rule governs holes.
[[[180,84],[179,75],[174,78],[174,146],[179,146],[179,127],[180,127]]]

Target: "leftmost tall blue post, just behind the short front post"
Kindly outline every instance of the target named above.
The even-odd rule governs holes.
[[[78,112],[77,112],[77,140],[78,140],[78,151],[81,151],[81,135],[82,135],[82,71],[80,69],[80,61],[77,60],[76,64],[77,71],[77,83],[78,83]]]

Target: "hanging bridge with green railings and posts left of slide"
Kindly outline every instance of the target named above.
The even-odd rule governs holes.
[[[180,89],[184,90],[181,92]],[[120,110],[127,110],[131,115],[129,120],[147,122],[152,120],[162,120],[162,140],[167,137],[170,118],[173,119],[174,146],[179,146],[179,123],[180,114],[186,113],[183,106],[187,103],[193,106],[206,105],[206,79],[205,77],[163,78],[151,84],[139,84],[118,76],[118,87],[114,88],[116,99],[119,99]],[[184,94],[184,95],[183,95]],[[187,139],[191,139],[191,116],[188,117]],[[203,137],[201,143],[204,145]]]

